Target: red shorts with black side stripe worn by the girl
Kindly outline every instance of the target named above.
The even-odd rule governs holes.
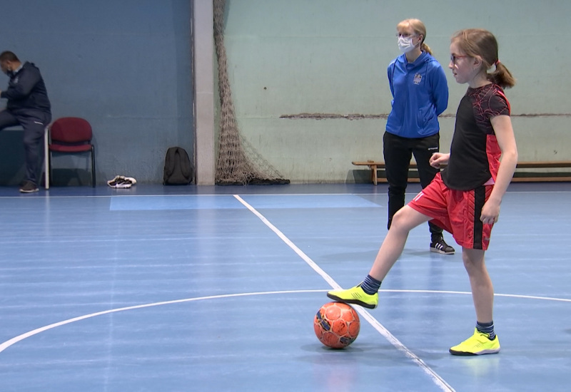
[[[461,247],[486,250],[493,225],[484,225],[480,215],[493,187],[482,185],[475,190],[451,190],[438,173],[408,205],[432,217],[430,222],[450,232]]]

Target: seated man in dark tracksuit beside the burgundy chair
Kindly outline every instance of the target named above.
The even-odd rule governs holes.
[[[51,121],[51,105],[44,79],[33,63],[21,63],[11,51],[0,53],[0,68],[9,76],[6,91],[0,98],[8,99],[6,109],[0,111],[0,130],[21,125],[24,128],[26,152],[26,179],[20,192],[38,192],[39,168],[41,167],[40,145]]]

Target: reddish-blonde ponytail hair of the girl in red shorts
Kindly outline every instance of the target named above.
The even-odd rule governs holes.
[[[515,86],[515,78],[512,73],[500,63],[497,57],[497,40],[490,31],[484,29],[464,29],[454,33],[452,39],[461,51],[470,57],[482,59],[482,71],[486,73],[488,81],[502,88]],[[495,66],[495,70],[488,73],[487,70]]]

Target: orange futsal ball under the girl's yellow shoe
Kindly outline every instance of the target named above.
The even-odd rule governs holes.
[[[317,339],[332,349],[349,346],[359,334],[359,314],[343,302],[329,302],[321,306],[313,319]]]

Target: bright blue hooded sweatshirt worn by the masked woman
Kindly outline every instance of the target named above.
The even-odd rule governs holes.
[[[413,63],[403,54],[389,64],[387,74],[393,94],[387,132],[402,138],[438,133],[438,115],[448,107],[448,83],[440,63],[427,52]]]

